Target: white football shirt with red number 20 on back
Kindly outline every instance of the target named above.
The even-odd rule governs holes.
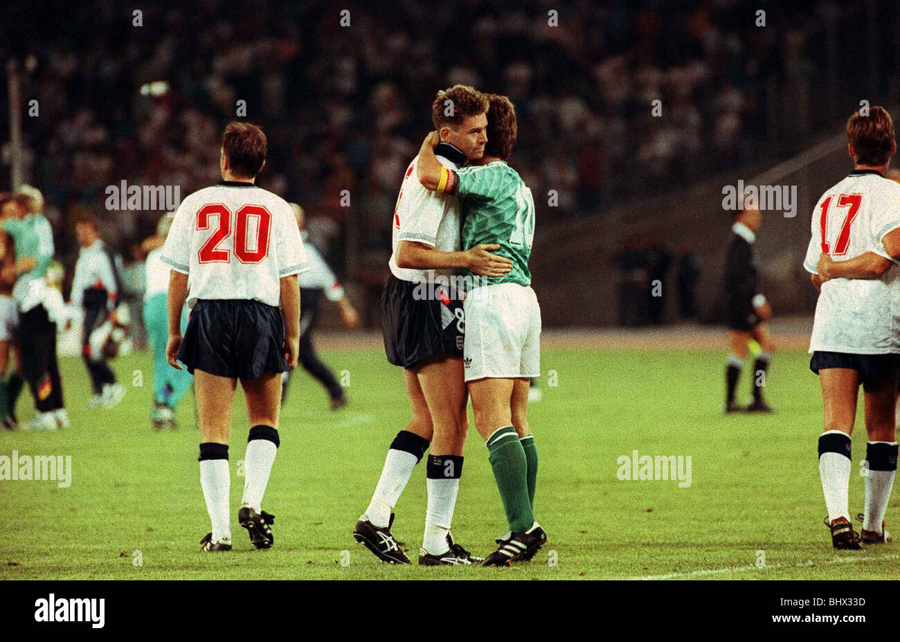
[[[190,275],[187,304],[246,299],[277,307],[279,279],[302,272],[306,253],[291,206],[250,183],[223,181],[190,194],[175,212],[160,257]]]

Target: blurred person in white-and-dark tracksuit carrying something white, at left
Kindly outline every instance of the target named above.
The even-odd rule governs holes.
[[[125,396],[125,389],[116,383],[103,351],[112,327],[118,323],[119,269],[112,252],[100,239],[100,231],[93,219],[80,219],[75,229],[81,251],[72,280],[71,301],[72,307],[83,313],[85,319],[82,346],[94,391],[90,406],[112,408]]]

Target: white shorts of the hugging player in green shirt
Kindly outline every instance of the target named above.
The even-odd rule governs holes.
[[[541,375],[541,308],[527,285],[482,285],[466,294],[465,380]]]

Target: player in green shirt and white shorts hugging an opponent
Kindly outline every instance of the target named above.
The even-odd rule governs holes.
[[[441,166],[431,134],[419,150],[417,172],[428,189],[459,197],[464,249],[494,243],[500,246],[496,253],[513,264],[504,276],[472,276],[464,302],[465,381],[509,524],[509,533],[484,561],[499,566],[531,559],[547,536],[535,521],[537,451],[527,420],[529,380],[540,375],[541,311],[528,271],[535,203],[506,162],[516,144],[515,109],[505,96],[489,95],[489,102],[488,142],[480,163],[457,170]]]

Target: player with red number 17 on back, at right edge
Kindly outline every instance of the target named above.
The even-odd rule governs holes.
[[[833,547],[890,539],[885,511],[897,467],[900,366],[900,185],[885,178],[896,154],[894,122],[881,107],[847,121],[853,171],[815,205],[804,267],[820,289],[810,368],[819,375],[824,433],[819,475]],[[823,256],[827,255],[827,256]],[[851,525],[851,432],[862,384],[868,462],[861,534]]]

